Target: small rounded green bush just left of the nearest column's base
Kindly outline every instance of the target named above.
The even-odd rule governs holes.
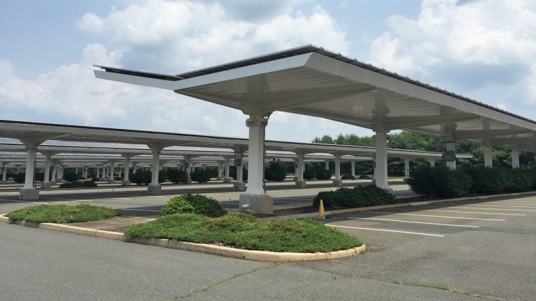
[[[219,217],[227,212],[216,199],[200,194],[183,194],[170,199],[162,208],[160,216],[175,213],[197,213],[207,217]]]

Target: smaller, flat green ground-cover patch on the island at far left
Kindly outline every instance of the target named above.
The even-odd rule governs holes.
[[[77,206],[67,205],[37,205],[7,214],[10,220],[25,220],[29,222],[52,222],[58,224],[72,222],[89,222],[93,220],[107,219],[117,215],[115,210],[105,207],[80,204]]]

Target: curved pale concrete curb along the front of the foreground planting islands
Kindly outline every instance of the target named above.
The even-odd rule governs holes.
[[[267,251],[255,251],[245,249],[234,249],[231,247],[223,247],[217,245],[198,244],[193,242],[181,242],[177,240],[168,240],[164,238],[138,238],[125,236],[123,233],[103,231],[96,229],[88,229],[77,226],[68,226],[64,224],[52,224],[52,223],[35,223],[27,221],[10,221],[6,215],[0,215],[0,222],[8,224],[17,224],[21,226],[28,226],[36,229],[45,229],[58,231],[63,233],[78,234],[83,236],[94,236],[98,238],[106,238],[112,240],[122,240],[124,242],[134,242],[141,245],[152,245],[156,247],[167,247],[169,249],[181,249],[186,251],[202,252],[207,254],[215,254],[220,256],[249,259],[255,261],[275,261],[275,262],[287,262],[287,261],[317,261],[325,259],[337,259],[350,256],[357,256],[366,251],[366,246],[355,247],[352,249],[345,249],[341,251],[327,252],[327,253],[292,253],[292,252],[267,252]]]

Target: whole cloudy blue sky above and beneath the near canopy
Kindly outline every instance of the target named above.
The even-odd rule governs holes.
[[[234,109],[105,81],[313,44],[536,120],[535,0],[0,0],[0,119],[247,137]],[[267,139],[373,132],[275,112]]]

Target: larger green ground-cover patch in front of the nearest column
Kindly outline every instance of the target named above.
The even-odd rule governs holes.
[[[192,213],[165,215],[130,226],[125,234],[271,252],[332,252],[363,245],[362,240],[313,219],[258,222],[246,213],[214,218]]]

